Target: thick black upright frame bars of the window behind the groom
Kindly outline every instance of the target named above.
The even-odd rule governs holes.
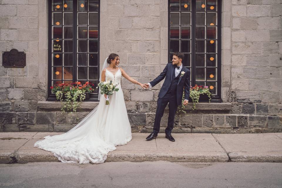
[[[206,2],[206,1],[205,1]],[[180,0],[181,4],[181,0]],[[221,103],[221,0],[217,0],[217,95],[212,95],[211,102]],[[170,59],[170,0],[168,1],[168,22],[167,22],[167,31],[168,31],[168,62],[171,62]],[[181,11],[179,11],[181,12]],[[181,24],[180,24],[181,28]],[[191,0],[191,85],[196,84],[196,1]],[[181,41],[181,39],[180,39]],[[194,45],[193,45],[194,44]],[[208,102],[208,100],[199,100],[199,102]]]

